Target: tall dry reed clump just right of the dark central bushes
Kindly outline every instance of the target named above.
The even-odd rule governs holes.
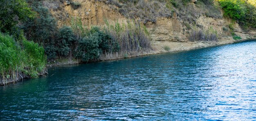
[[[105,20],[105,31],[110,34],[112,42],[120,47],[118,54],[135,56],[140,52],[148,52],[151,49],[150,38],[146,27],[141,27],[134,21],[109,22]],[[110,51],[111,52],[111,51]]]

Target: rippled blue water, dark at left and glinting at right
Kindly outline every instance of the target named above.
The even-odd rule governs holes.
[[[48,72],[0,86],[0,120],[256,120],[256,40]]]

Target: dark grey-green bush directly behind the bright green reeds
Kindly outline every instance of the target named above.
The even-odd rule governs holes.
[[[35,2],[32,8],[38,13],[37,17],[27,20],[20,28],[25,31],[25,37],[28,40],[39,43],[45,48],[45,54],[49,60],[55,59],[59,44],[56,41],[58,38],[56,20],[40,2]]]

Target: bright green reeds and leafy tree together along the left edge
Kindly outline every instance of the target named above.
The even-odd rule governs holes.
[[[25,0],[2,0],[0,5],[0,85],[44,74],[43,47],[27,41],[17,26],[35,13]]]

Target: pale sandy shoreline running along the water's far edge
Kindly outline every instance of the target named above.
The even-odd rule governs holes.
[[[142,52],[141,54],[138,55],[133,55],[129,56],[128,58],[136,58],[136,57],[141,57],[141,56],[149,56],[149,55],[155,55],[155,54],[164,54],[164,53],[174,53],[174,52],[185,52],[185,51],[190,51],[193,49],[202,49],[202,48],[207,48],[207,47],[217,47],[217,46],[222,46],[222,45],[228,45],[228,44],[234,44],[234,43],[241,43],[245,41],[250,41],[250,40],[255,40],[256,38],[250,38],[250,39],[242,39],[242,40],[233,40],[233,39],[228,39],[228,40],[219,40],[218,42],[174,42],[174,41],[167,41],[167,44],[165,41],[156,41],[152,43],[153,50],[150,52]],[[160,43],[160,44],[159,44]],[[155,44],[155,45],[153,45]],[[163,46],[170,46],[170,50],[166,51],[164,50]],[[114,57],[114,58],[101,58],[99,61],[95,62],[102,62],[102,61],[113,61],[113,60],[121,60],[121,59],[126,59],[124,57]],[[94,63],[94,62],[88,62],[88,63]],[[51,67],[61,67],[65,65],[79,65],[82,64],[78,60],[72,60],[72,61],[64,61],[64,62],[57,62],[53,64],[47,64],[47,68]]]

